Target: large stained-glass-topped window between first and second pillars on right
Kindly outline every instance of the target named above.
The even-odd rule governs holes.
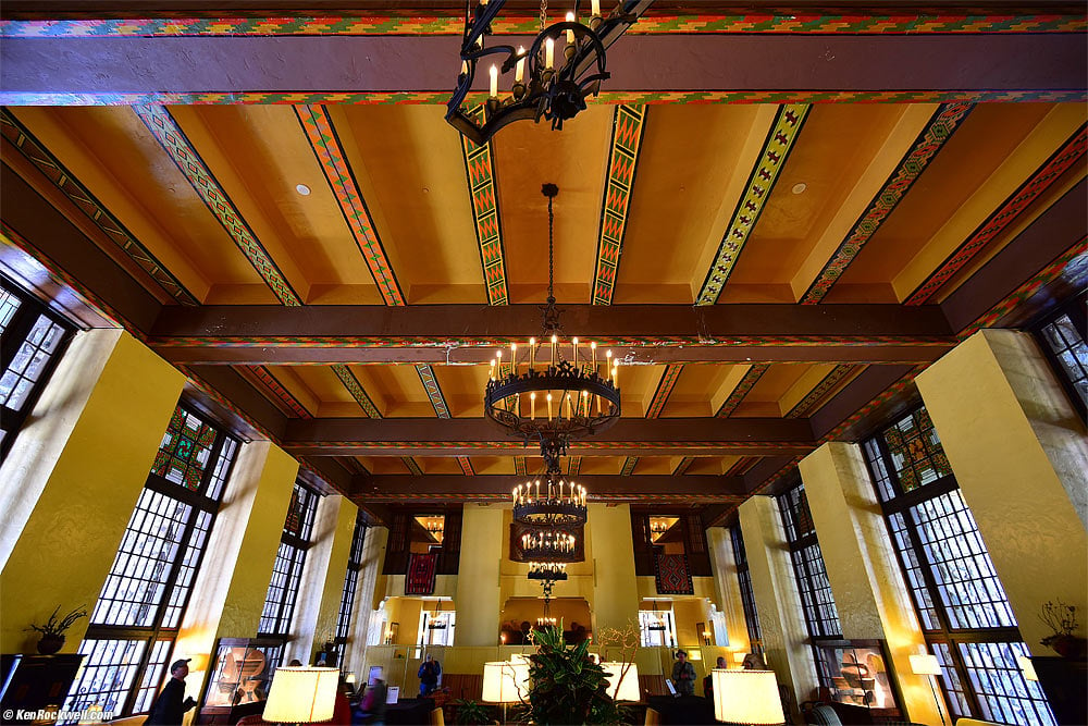
[[[1028,649],[929,414],[900,419],[864,451],[953,716],[1053,724],[1017,665]]]

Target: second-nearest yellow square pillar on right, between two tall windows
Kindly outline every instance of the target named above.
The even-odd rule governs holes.
[[[910,656],[927,652],[926,641],[861,446],[828,442],[799,468],[842,637],[887,641],[903,709],[911,721],[939,724],[928,677],[911,672]]]

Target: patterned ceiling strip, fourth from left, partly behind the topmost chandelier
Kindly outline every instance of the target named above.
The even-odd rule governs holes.
[[[472,106],[466,109],[466,113],[478,123],[483,123],[483,106]],[[508,305],[510,298],[506,286],[506,256],[496,196],[494,152],[490,141],[477,146],[466,136],[461,136],[461,152],[465,156],[465,175],[469,183],[472,221],[480,245],[480,264],[483,268],[484,286],[487,288],[487,304]]]

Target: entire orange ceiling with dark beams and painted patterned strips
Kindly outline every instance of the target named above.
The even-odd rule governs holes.
[[[482,397],[540,331],[543,182],[564,324],[623,364],[598,501],[720,517],[1085,276],[1081,5],[655,7],[601,102],[474,147],[450,5],[237,4],[5,3],[3,266],[376,516],[541,470]]]

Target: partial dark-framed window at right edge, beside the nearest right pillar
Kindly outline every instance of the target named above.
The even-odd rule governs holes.
[[[1047,313],[1030,330],[1081,418],[1088,413],[1088,295]]]

